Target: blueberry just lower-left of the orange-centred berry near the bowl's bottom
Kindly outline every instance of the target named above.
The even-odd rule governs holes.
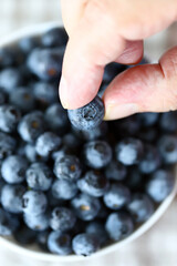
[[[51,213],[50,226],[53,231],[65,232],[74,227],[74,213],[66,207],[55,207]]]

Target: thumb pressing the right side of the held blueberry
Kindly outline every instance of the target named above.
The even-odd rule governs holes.
[[[177,47],[158,64],[138,65],[114,79],[103,96],[105,120],[177,110]]]

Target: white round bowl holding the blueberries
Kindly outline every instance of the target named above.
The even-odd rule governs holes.
[[[35,27],[29,27],[29,28],[22,29],[18,32],[10,34],[9,37],[6,37],[2,41],[0,41],[0,47],[10,45],[12,43],[15,43],[19,39],[28,37],[28,35],[41,34],[54,25],[60,25],[60,24],[58,22],[50,22],[50,23],[48,22],[48,23],[42,23],[42,24],[35,25]],[[158,206],[156,212],[152,215],[152,217],[146,223],[144,223],[142,226],[139,226],[127,238],[125,238],[118,243],[114,243],[107,247],[104,247],[90,257],[85,258],[85,257],[75,256],[75,255],[59,256],[59,255],[43,253],[35,245],[22,247],[19,244],[17,244],[14,242],[14,239],[12,239],[11,237],[0,237],[0,247],[3,247],[3,249],[6,249],[8,252],[7,254],[9,254],[9,252],[12,252],[13,255],[17,255],[18,259],[19,259],[18,260],[19,266],[20,266],[20,264],[19,264],[20,262],[22,262],[21,265],[25,265],[25,266],[28,265],[28,263],[30,263],[30,265],[35,264],[37,266],[39,266],[40,263],[41,263],[41,265],[44,265],[44,263],[46,263],[48,266],[49,265],[50,266],[51,265],[58,265],[58,266],[77,265],[75,263],[79,263],[79,264],[82,263],[82,264],[84,264],[84,266],[86,266],[86,265],[91,264],[91,260],[92,260],[92,263],[93,262],[102,262],[101,263],[102,266],[103,266],[103,264],[107,265],[104,260],[101,259],[101,257],[103,258],[104,255],[118,250],[123,246],[127,245],[128,243],[135,241],[136,238],[138,238],[139,236],[145,234],[145,232],[147,232],[160,218],[160,216],[165,213],[165,211],[169,207],[169,205],[173,202],[173,200],[176,195],[176,192],[177,192],[177,168],[175,168],[174,176],[175,176],[174,177],[175,184],[174,184],[174,188],[173,188],[171,193]],[[127,256],[128,256],[128,254],[127,254]],[[94,264],[93,266],[95,266],[95,265],[97,265],[97,263]]]

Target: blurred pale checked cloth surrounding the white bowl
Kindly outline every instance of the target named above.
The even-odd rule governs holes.
[[[41,22],[61,23],[60,0],[0,0],[0,41],[19,29]],[[156,62],[160,54],[177,44],[177,23],[145,42],[145,54]],[[0,247],[0,264],[21,265],[15,254]],[[121,250],[97,260],[93,266],[176,266],[177,265],[177,208],[171,204],[163,218],[144,236]],[[32,266],[24,259],[22,265]],[[82,263],[84,266],[84,263]],[[44,266],[44,264],[38,265]],[[50,266],[50,264],[48,264]],[[58,266],[60,266],[58,264]],[[77,266],[73,264],[73,266]]]

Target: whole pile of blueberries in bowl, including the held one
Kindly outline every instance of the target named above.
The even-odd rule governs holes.
[[[177,113],[103,122],[112,63],[90,104],[58,96],[61,28],[0,49],[0,235],[59,255],[91,255],[129,236],[174,187]],[[71,121],[71,122],[70,122]]]

